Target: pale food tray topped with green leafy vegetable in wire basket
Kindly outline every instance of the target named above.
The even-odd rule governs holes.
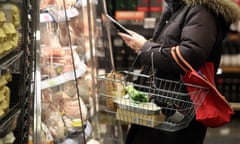
[[[131,84],[126,86],[126,91],[124,97],[115,100],[118,120],[148,127],[155,127],[164,121],[161,108],[149,101],[147,93],[136,90]]]

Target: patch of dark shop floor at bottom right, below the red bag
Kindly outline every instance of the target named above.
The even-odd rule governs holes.
[[[208,128],[204,144],[240,144],[240,112],[219,128]]]

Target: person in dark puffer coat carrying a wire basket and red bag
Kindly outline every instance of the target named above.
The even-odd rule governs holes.
[[[143,73],[153,64],[158,77],[177,80],[183,74],[170,52],[180,47],[183,57],[195,68],[213,62],[217,70],[221,57],[221,44],[230,25],[240,19],[239,7],[231,0],[165,0],[167,6],[161,14],[151,40],[129,30],[130,35],[119,33],[125,43],[139,55]],[[132,124],[126,144],[203,144],[207,127],[193,119],[179,131]]]

